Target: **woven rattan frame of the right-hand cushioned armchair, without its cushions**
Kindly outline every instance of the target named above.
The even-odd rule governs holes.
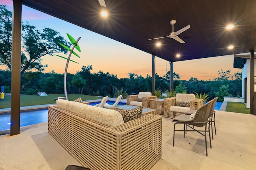
[[[176,98],[166,98],[164,99],[164,117],[168,118],[174,118],[177,117],[180,114],[184,114],[183,112],[173,112],[170,111],[171,106],[175,106]],[[190,101],[190,109],[199,109],[199,107],[204,105],[204,100],[203,99],[194,99]]]

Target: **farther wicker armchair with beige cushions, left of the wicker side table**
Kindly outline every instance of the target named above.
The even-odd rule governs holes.
[[[150,92],[139,92],[139,94],[127,96],[126,100],[127,105],[150,108],[150,100],[156,98],[157,96],[152,96]],[[138,99],[141,99],[141,102]]]

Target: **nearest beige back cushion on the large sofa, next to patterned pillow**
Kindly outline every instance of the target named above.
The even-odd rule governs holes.
[[[110,126],[118,126],[124,124],[122,115],[115,110],[106,109],[103,107],[90,106],[85,108],[84,116],[98,121],[100,123],[105,123]]]

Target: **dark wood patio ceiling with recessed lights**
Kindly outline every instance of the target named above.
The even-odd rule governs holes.
[[[108,18],[101,18],[98,0],[22,0],[22,4],[74,23],[167,61],[184,61],[256,51],[255,0],[105,0]],[[174,31],[191,25],[170,38]],[[232,30],[226,30],[233,23]],[[86,38],[86,37],[85,37]],[[156,47],[160,41],[162,46]],[[229,45],[234,49],[228,50]],[[176,54],[181,57],[177,58]]]

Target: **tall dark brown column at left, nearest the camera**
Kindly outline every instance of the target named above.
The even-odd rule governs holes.
[[[10,135],[20,134],[20,63],[22,0],[13,0],[12,12],[12,80]]]

